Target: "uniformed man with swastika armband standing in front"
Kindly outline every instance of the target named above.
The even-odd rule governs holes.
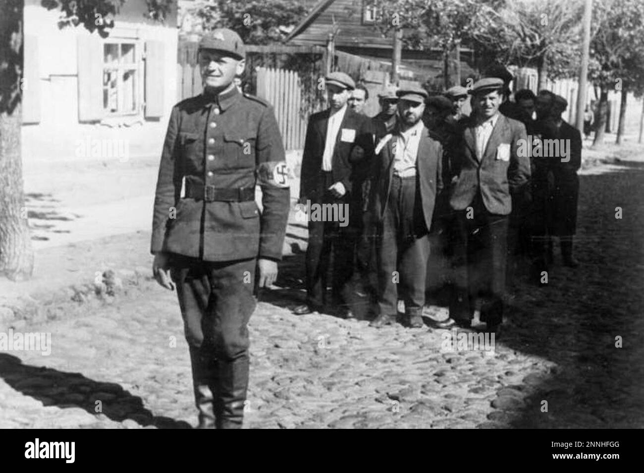
[[[245,65],[242,39],[216,29],[198,53],[204,92],[170,115],[151,251],[158,283],[176,284],[198,427],[235,429],[242,427],[248,385],[254,284],[276,279],[290,195],[272,108],[233,82]]]

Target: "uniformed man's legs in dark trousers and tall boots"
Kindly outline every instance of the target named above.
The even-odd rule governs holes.
[[[247,325],[256,306],[255,269],[255,258],[206,262],[171,257],[201,427],[242,427],[249,378]]]

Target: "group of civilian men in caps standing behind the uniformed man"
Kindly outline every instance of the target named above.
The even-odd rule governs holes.
[[[330,107],[308,122],[300,199],[346,206],[349,223],[308,222],[307,300],[294,313],[354,317],[347,293],[358,280],[374,305],[370,325],[397,322],[403,300],[402,322],[422,327],[430,235],[438,233],[452,272],[450,318],[437,325],[469,327],[480,307],[498,336],[515,263],[547,284],[556,236],[564,264],[577,265],[580,133],[562,119],[563,97],[520,90],[511,102],[508,82],[484,77],[471,90],[433,95],[388,88],[369,118],[366,89],[343,72],[328,75]]]

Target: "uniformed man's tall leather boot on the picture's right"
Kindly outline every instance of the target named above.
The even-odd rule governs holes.
[[[217,428],[241,429],[248,389],[248,355],[232,361],[219,360],[217,371],[219,389],[215,405],[220,406],[221,409],[221,414],[217,416]]]

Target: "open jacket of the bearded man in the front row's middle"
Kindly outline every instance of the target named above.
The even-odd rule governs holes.
[[[389,136],[386,135],[383,139],[387,139]],[[373,166],[374,189],[371,208],[372,215],[379,222],[383,220],[392,186],[393,158],[395,156],[393,143],[395,141],[396,135],[393,134],[376,155]],[[434,213],[437,195],[443,188],[442,156],[442,145],[438,140],[433,139],[430,136],[430,131],[423,126],[416,157],[416,182],[420,185],[422,213],[428,230],[431,229],[431,218]]]

